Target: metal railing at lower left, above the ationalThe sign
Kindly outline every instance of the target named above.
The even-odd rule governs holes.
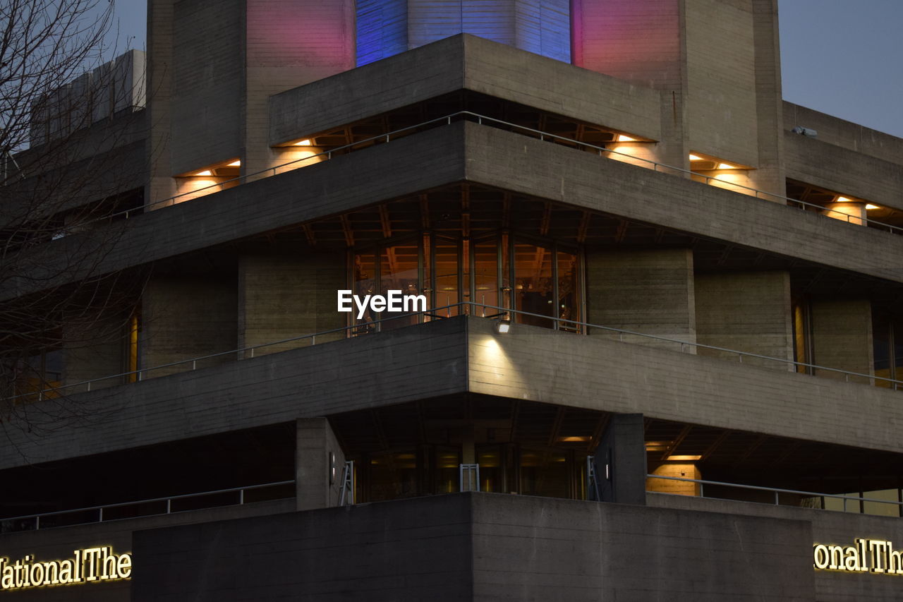
[[[35,513],[35,514],[23,514],[22,516],[10,516],[8,518],[0,518],[0,532],[9,532],[9,531],[38,531],[41,529],[51,529],[53,527],[69,527],[77,524],[90,524],[95,522],[112,522],[112,521],[126,521],[129,519],[135,518],[145,518],[148,516],[161,516],[163,514],[174,514],[174,513],[182,513],[182,512],[191,512],[193,510],[207,510],[209,508],[217,508],[221,506],[236,506],[236,505],[245,505],[246,503],[253,503],[255,501],[248,501],[246,499],[246,493],[251,491],[260,491],[264,489],[271,489],[275,487],[280,487],[283,485],[294,484],[294,481],[277,481],[275,483],[265,483],[265,484],[256,484],[256,485],[248,485],[246,487],[231,487],[229,489],[216,489],[213,491],[205,491],[200,492],[198,494],[182,494],[182,495],[170,495],[169,497],[154,497],[147,500],[136,500],[135,502],[120,502],[120,503],[107,503],[99,506],[88,506],[86,508],[74,508],[72,510],[59,510],[52,513]],[[224,496],[226,494],[236,494],[235,501],[227,502],[227,503],[207,503],[204,505],[203,499],[205,497],[211,497],[215,495]],[[280,499],[288,499],[290,497],[294,497],[294,491],[291,495],[282,495],[279,497],[269,498],[268,500],[259,500],[259,501],[271,501],[271,500],[280,500]],[[173,509],[172,503],[176,502],[200,502],[196,507],[184,508],[182,510],[175,508]],[[150,510],[142,510],[141,506],[145,506],[148,504],[160,504],[162,506],[162,510],[158,510],[156,512]],[[115,511],[116,509],[127,509],[132,508],[135,510],[135,513],[128,514],[126,516],[114,516],[110,517],[110,512]],[[104,513],[107,513],[105,516]],[[88,514],[88,516],[82,517],[82,520],[79,520],[78,514]],[[126,513],[127,514],[127,513]],[[49,521],[51,518],[64,518],[66,516],[73,516],[75,519],[73,521],[61,521],[62,523],[53,523]],[[48,524],[50,522],[50,524]]]

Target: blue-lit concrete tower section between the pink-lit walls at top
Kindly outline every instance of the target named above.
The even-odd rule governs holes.
[[[570,0],[358,0],[358,67],[456,33],[571,61]]]

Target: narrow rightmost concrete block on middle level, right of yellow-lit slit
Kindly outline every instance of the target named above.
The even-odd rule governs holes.
[[[827,368],[873,374],[871,304],[866,299],[812,302],[813,363]],[[816,370],[829,379],[845,380],[838,372]],[[851,377],[853,382],[870,379]]]

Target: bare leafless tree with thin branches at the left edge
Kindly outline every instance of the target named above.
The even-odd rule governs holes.
[[[53,390],[55,356],[119,340],[135,307],[140,278],[99,268],[143,205],[143,55],[105,61],[112,23],[107,0],[0,1],[5,427],[82,414]]]

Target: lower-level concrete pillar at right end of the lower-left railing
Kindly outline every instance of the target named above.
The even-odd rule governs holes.
[[[339,505],[345,452],[325,418],[298,419],[295,487],[298,510]]]

